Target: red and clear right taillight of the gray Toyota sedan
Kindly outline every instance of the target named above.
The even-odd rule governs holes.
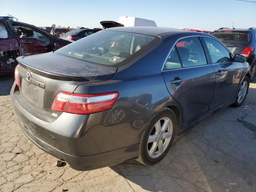
[[[58,92],[52,104],[52,110],[74,114],[96,113],[111,109],[118,95],[118,92],[100,94]]]

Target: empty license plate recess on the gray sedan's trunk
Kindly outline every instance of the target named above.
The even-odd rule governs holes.
[[[24,98],[26,98],[33,105],[42,108],[44,104],[44,89],[27,82],[24,78],[21,78],[20,92]]]

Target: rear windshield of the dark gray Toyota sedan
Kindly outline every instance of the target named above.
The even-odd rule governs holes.
[[[121,66],[154,44],[157,37],[102,30],[73,42],[55,53],[106,66]],[[158,39],[158,38],[157,38]]]

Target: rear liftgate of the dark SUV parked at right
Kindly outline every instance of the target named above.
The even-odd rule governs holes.
[[[246,32],[214,32],[212,35],[223,42],[234,55],[241,54],[249,43],[249,34]]]

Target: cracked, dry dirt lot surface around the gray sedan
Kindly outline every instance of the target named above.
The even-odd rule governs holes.
[[[229,107],[177,137],[155,166],[135,160],[79,172],[30,142],[10,102],[11,76],[0,77],[0,191],[256,191],[256,84],[246,105]]]

